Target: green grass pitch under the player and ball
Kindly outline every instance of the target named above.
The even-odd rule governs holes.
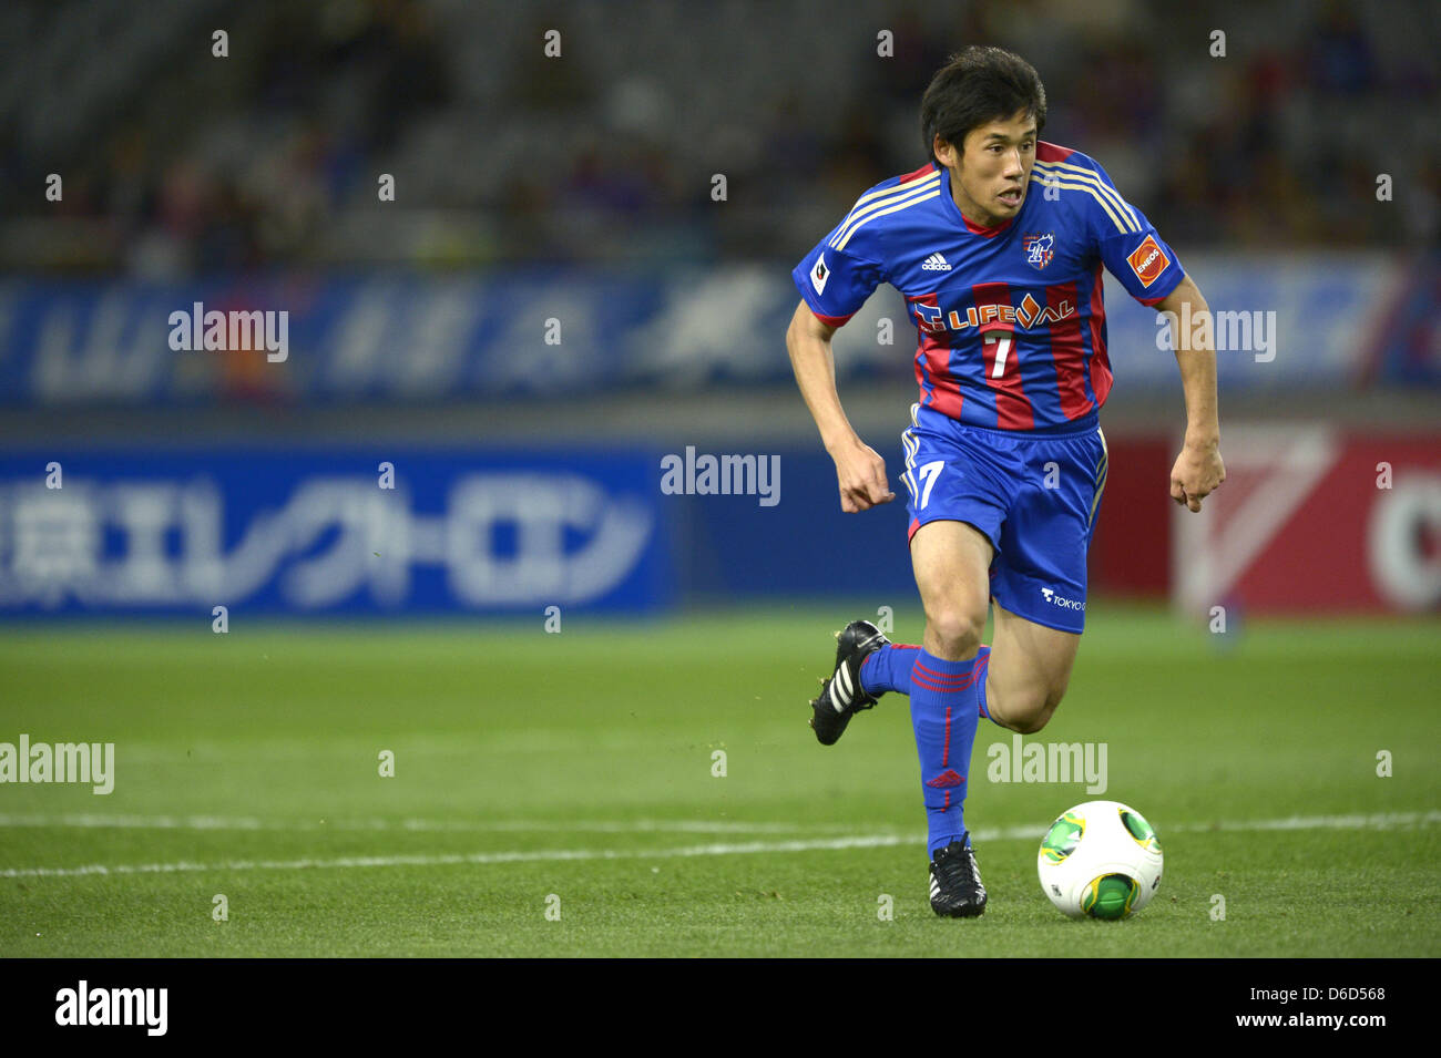
[[[990,905],[942,921],[906,700],[830,749],[806,725],[830,632],[872,609],[12,628],[0,741],[112,741],[117,776],[0,785],[0,956],[1441,954],[1437,622],[1218,641],[1094,607],[1027,741],[1104,741],[1108,789],[989,782],[1012,734],[983,721]],[[1068,921],[1036,881],[1094,796],[1166,852],[1128,921]]]

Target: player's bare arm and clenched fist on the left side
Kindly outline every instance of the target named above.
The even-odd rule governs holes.
[[[785,331],[785,348],[791,354],[795,384],[820,429],[821,443],[836,461],[840,510],[866,511],[876,504],[891,502],[895,492],[886,485],[885,461],[860,439],[840,406],[836,357],[830,347],[833,334],[836,328],[801,301]]]

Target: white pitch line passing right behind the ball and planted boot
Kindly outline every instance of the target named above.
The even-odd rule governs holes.
[[[1218,823],[1169,826],[1167,833],[1209,833],[1245,831],[1321,831],[1321,829],[1393,829],[1429,826],[1441,822],[1441,812],[1383,812],[1346,816],[1290,816],[1285,819],[1245,819]],[[973,831],[977,844],[987,841],[1039,841],[1035,826],[1007,826]],[[219,864],[91,864],[86,867],[26,867],[0,869],[0,878],[76,878],[82,875],[180,874],[202,871],[304,871],[326,867],[447,867],[458,864],[563,862],[578,859],[674,859],[690,856],[733,856],[758,852],[813,852],[856,848],[919,845],[921,835],[870,833],[849,838],[811,838],[798,841],[716,842],[669,849],[535,849],[522,852],[470,852],[395,856],[339,856],[333,859],[232,859]]]

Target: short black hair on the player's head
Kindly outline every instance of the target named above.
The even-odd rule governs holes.
[[[965,134],[991,121],[1004,121],[1016,111],[1036,119],[1036,132],[1046,127],[1046,86],[1036,68],[1004,48],[971,45],[931,78],[921,96],[921,135],[935,161],[935,137],[965,147]]]

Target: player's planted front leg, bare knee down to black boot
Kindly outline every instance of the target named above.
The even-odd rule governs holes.
[[[990,538],[964,521],[929,521],[911,538],[925,635],[911,672],[911,724],[931,852],[931,907],[968,917],[986,888],[965,829],[964,805],[976,744],[980,638],[990,600]]]

